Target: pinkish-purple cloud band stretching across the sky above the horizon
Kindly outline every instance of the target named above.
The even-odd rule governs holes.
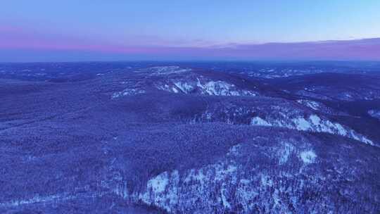
[[[0,25],[0,32],[0,49],[145,54],[168,59],[191,57],[235,60],[380,60],[380,39],[221,46],[204,46],[201,41],[199,43],[203,46],[181,46],[181,42],[177,46],[127,46],[62,34],[30,32],[3,25]]]

